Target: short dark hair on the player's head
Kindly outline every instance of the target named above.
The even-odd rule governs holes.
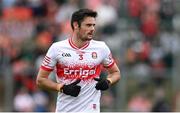
[[[85,17],[97,17],[97,12],[91,9],[80,9],[75,11],[71,17],[71,27],[74,30],[73,23],[77,22],[79,26],[81,26],[81,22],[84,20]]]

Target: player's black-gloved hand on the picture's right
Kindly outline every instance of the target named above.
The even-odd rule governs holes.
[[[97,90],[107,90],[110,87],[110,81],[107,79],[101,79],[101,78],[94,78],[95,81],[98,81],[96,83],[96,89]]]

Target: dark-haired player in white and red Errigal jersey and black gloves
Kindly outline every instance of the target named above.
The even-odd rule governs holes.
[[[120,71],[104,42],[93,40],[97,13],[80,9],[72,14],[70,38],[54,43],[37,76],[39,87],[59,92],[56,112],[100,112],[101,91],[120,79]],[[106,79],[99,78],[101,65]],[[56,69],[57,83],[48,79]]]

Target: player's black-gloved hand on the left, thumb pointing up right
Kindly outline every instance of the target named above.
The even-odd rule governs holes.
[[[77,85],[80,81],[81,80],[78,79],[69,85],[64,85],[62,87],[61,91],[66,95],[71,95],[73,97],[77,97],[79,95],[80,90],[81,90],[81,86]]]

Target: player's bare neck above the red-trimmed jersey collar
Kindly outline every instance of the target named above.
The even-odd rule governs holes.
[[[89,41],[84,41],[84,40],[80,39],[77,35],[72,36],[72,43],[78,48],[82,48],[88,42]]]

